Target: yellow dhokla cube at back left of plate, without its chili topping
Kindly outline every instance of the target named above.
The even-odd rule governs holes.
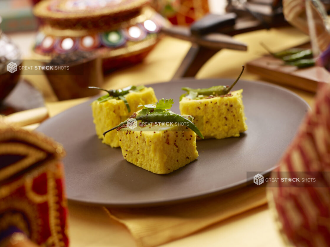
[[[108,144],[112,148],[119,147],[119,139],[116,131],[110,132],[106,136],[103,136],[103,132],[119,124],[120,116],[129,116],[133,112],[136,112],[138,105],[152,104],[157,101],[151,87],[143,88],[137,92],[130,92],[124,96],[130,107],[129,112],[123,100],[111,98],[104,101],[102,99],[103,97],[94,100],[91,104],[93,122],[95,124],[96,134],[102,139],[102,143]]]

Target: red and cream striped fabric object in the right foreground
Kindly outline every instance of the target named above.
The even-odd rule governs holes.
[[[287,173],[285,173],[287,172]],[[330,85],[320,87],[315,104],[273,172],[297,177],[319,174],[304,187],[286,181],[268,188],[270,205],[287,243],[326,247],[330,243]],[[299,186],[299,187],[298,187]]]

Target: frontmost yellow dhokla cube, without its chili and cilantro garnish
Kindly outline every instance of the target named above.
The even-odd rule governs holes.
[[[117,135],[124,159],[150,172],[167,174],[198,157],[195,132],[184,130],[184,126],[138,126],[120,128]]]

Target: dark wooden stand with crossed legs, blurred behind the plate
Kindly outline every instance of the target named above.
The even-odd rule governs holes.
[[[287,25],[283,15],[274,14],[273,21],[260,18],[260,13],[238,16],[235,13],[224,15],[209,14],[193,23],[190,27],[171,26],[162,28],[166,35],[191,41],[192,46],[174,74],[173,79],[194,77],[199,69],[219,50],[247,50],[247,45],[232,36],[254,30]],[[259,15],[258,15],[259,14]],[[258,18],[256,18],[256,16]]]

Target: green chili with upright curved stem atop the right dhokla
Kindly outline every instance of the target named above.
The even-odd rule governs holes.
[[[234,81],[234,83],[230,87],[228,87],[228,86],[213,86],[213,87],[210,87],[210,88],[198,88],[198,89],[183,87],[181,89],[184,90],[184,91],[187,91],[188,92],[188,96],[190,98],[193,97],[193,95],[191,94],[191,92],[194,92],[195,93],[194,94],[194,96],[195,96],[194,98],[196,98],[198,95],[218,95],[218,96],[220,96],[220,95],[226,95],[235,86],[236,82],[238,82],[238,80],[240,79],[241,75],[243,74],[243,71],[244,71],[244,65],[242,65],[242,71],[241,71],[240,75],[237,77],[236,81]],[[181,98],[182,98],[182,96],[181,96]]]

